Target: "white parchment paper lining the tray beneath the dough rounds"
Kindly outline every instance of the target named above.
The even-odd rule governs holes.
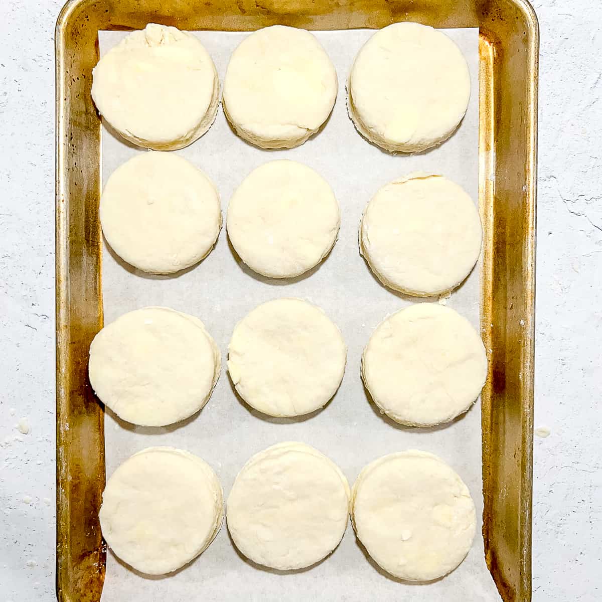
[[[359,368],[361,353],[373,329],[397,309],[420,301],[386,290],[376,281],[358,252],[358,225],[376,190],[406,173],[441,173],[461,184],[477,202],[478,193],[478,29],[446,29],[464,52],[472,90],[467,115],[442,146],[420,155],[391,156],[368,144],[347,117],[345,82],[356,53],[371,30],[314,32],[335,64],[339,78],[337,104],[326,127],[303,146],[261,151],[238,138],[220,110],[216,123],[190,147],[176,151],[200,167],[217,185],[222,211],[234,188],[255,167],[276,158],[308,164],[329,181],[341,206],[341,231],[332,253],[308,275],[274,281],[251,272],[237,261],[222,229],[216,248],[199,265],[178,276],[147,275],[103,250],[102,283],[105,323],[120,314],[149,305],[166,305],[197,315],[216,339],[225,364],[235,323],[259,303],[276,297],[302,297],[319,305],[341,328],[348,346],[347,368],[338,393],[322,411],[305,418],[269,418],[244,405],[225,371],[213,396],[199,414],[161,429],[123,423],[107,411],[105,441],[107,475],[132,453],[150,445],[173,445],[196,453],[216,470],[227,497],[238,470],[253,453],[279,441],[314,445],[341,467],[350,483],[362,467],[386,453],[420,448],[444,458],[467,483],[482,515],[480,408],[443,427],[403,427],[384,417],[364,393]],[[126,33],[99,32],[101,55]],[[198,32],[213,57],[220,81],[228,58],[248,34]],[[145,152],[102,131],[103,182],[116,167]],[[479,268],[447,304],[478,329]],[[317,566],[281,574],[241,557],[222,527],[200,557],[169,577],[144,577],[107,555],[102,600],[499,600],[483,557],[477,528],[473,548],[445,579],[429,585],[399,583],[387,577],[364,554],[351,524],[341,545]],[[468,593],[470,592],[470,593]]]

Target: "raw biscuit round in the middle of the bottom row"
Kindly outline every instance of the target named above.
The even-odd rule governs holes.
[[[311,566],[337,547],[349,518],[349,484],[329,458],[285,442],[241,469],[226,506],[238,550],[270,568]]]

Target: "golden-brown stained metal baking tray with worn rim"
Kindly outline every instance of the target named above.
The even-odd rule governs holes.
[[[479,205],[485,559],[504,602],[531,600],[538,23],[526,0],[70,0],[56,29],[57,598],[98,602],[104,409],[87,378],[101,329],[100,29],[480,28]]]

